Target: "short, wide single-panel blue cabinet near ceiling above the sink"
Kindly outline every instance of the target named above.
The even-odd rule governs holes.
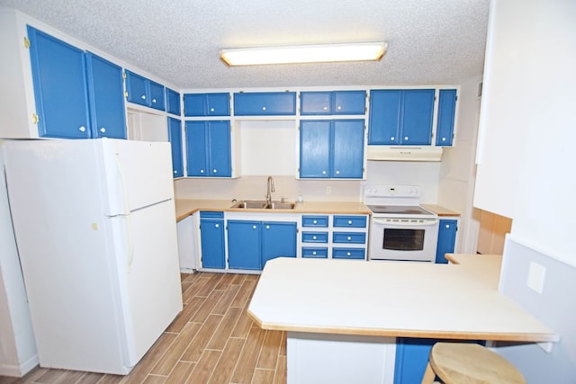
[[[290,116],[295,114],[295,92],[252,92],[234,94],[235,116]]]

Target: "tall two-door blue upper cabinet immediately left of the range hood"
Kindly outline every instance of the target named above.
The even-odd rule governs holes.
[[[300,177],[361,179],[365,121],[301,121]]]

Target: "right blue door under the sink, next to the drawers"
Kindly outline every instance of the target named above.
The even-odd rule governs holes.
[[[276,257],[296,257],[296,223],[262,223],[262,268]]]

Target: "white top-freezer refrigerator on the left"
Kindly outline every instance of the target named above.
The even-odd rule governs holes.
[[[168,143],[2,143],[40,366],[127,374],[182,310]]]

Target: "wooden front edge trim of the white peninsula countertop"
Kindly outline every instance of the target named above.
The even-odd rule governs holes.
[[[271,331],[304,332],[310,334],[331,335],[365,335],[365,336],[392,336],[417,337],[430,339],[454,340],[492,340],[502,342],[551,343],[560,341],[557,334],[510,334],[486,332],[452,332],[452,331],[415,331],[407,329],[370,329],[370,328],[340,328],[320,326],[293,326],[284,324],[263,323],[250,309],[247,315],[262,329]]]

